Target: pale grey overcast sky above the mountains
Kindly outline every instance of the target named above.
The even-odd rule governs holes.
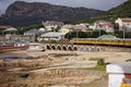
[[[61,4],[74,8],[85,7],[107,11],[127,0],[0,0],[0,14],[4,13],[5,9],[14,1],[48,2],[51,4]]]

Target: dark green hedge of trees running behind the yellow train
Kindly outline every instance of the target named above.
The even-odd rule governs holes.
[[[72,38],[97,38],[103,36],[103,35],[112,35],[116,36],[117,38],[131,38],[131,32],[124,32],[124,36],[123,36],[123,32],[122,30],[115,30],[115,33],[109,33],[107,34],[105,30],[91,30],[91,32],[71,32],[66,34],[66,38],[68,39],[72,39]]]

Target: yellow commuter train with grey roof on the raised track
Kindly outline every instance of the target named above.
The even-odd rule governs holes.
[[[73,38],[72,44],[131,47],[131,39]]]

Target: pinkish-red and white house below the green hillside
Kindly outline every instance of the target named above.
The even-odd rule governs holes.
[[[95,28],[94,29],[103,29],[107,33],[112,33],[114,32],[114,25],[110,22],[107,21],[96,21],[94,23]]]

